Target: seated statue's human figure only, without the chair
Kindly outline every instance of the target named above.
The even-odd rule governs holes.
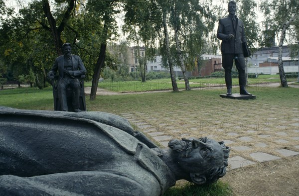
[[[48,76],[53,77],[56,75],[58,70],[59,79],[58,79],[58,98],[61,105],[62,111],[68,111],[67,98],[66,98],[66,89],[68,87],[72,88],[72,106],[75,112],[80,112],[80,88],[81,84],[79,78],[82,75],[85,75],[86,69],[83,65],[81,58],[77,55],[71,54],[71,44],[64,43],[62,45],[63,55],[55,59],[54,65],[50,70]]]

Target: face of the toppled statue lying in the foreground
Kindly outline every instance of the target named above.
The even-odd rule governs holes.
[[[223,165],[223,156],[223,148],[215,140],[194,139],[189,153],[185,157],[179,157],[179,164],[186,172],[201,173]]]

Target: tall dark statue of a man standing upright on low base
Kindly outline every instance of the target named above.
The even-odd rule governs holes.
[[[228,3],[228,17],[219,20],[217,38],[221,39],[222,67],[225,71],[226,95],[232,95],[232,67],[233,61],[239,73],[240,94],[252,96],[245,89],[246,86],[246,65],[244,60],[243,45],[247,46],[244,32],[244,24],[236,16],[236,2]],[[246,55],[247,57],[247,55]]]

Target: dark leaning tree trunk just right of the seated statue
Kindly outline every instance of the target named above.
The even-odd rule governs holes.
[[[96,67],[92,76],[92,85],[90,91],[90,100],[94,100],[97,96],[99,78],[101,74],[101,70],[104,67],[105,59],[106,59],[106,46],[107,46],[107,35],[108,35],[108,16],[104,16],[104,28],[103,28],[103,37],[100,48],[100,54],[96,63]]]

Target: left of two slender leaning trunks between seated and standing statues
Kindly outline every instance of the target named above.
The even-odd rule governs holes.
[[[165,36],[165,47],[166,47],[166,54],[167,54],[167,60],[169,65],[169,71],[171,76],[171,85],[172,90],[174,92],[178,92],[176,80],[175,80],[175,74],[173,70],[173,61],[170,55],[170,48],[169,48],[169,36],[168,36],[168,30],[167,30],[167,22],[166,22],[166,13],[165,10],[162,10],[163,12],[163,27],[164,27],[164,36]]]

